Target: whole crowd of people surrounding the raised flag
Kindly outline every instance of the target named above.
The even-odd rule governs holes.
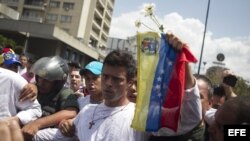
[[[166,38],[182,51],[180,39]],[[103,63],[91,61],[83,68],[59,56],[34,60],[21,54],[18,59],[11,49],[2,49],[1,57],[0,134],[5,141],[223,141],[223,125],[250,123],[250,97],[237,97],[226,83],[218,91],[188,63],[177,131],[143,132],[131,127],[137,97],[132,54],[114,50]],[[222,77],[232,75],[225,70]]]

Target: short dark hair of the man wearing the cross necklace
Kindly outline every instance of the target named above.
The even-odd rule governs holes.
[[[136,76],[136,61],[133,55],[127,51],[114,50],[104,59],[103,65],[113,67],[125,67],[127,70],[127,79],[132,80]]]

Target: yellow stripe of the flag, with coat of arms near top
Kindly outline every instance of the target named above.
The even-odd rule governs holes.
[[[150,49],[150,43],[156,45],[155,51]],[[132,127],[136,130],[145,131],[148,115],[148,105],[154,80],[154,74],[159,59],[159,35],[155,32],[137,34],[137,100],[136,110]]]

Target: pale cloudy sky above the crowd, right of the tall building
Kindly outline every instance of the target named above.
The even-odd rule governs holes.
[[[136,31],[140,20],[157,30],[155,24],[142,14],[143,5],[153,3],[155,15],[165,27],[186,42],[200,58],[208,0],[116,0],[110,28],[110,37],[126,39]],[[225,55],[225,63],[235,74],[250,80],[250,1],[211,0],[207,34],[202,62],[205,69],[216,61],[218,53]],[[198,70],[198,63],[192,67]],[[204,73],[202,63],[201,73]]]

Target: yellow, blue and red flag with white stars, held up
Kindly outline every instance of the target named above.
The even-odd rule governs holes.
[[[137,35],[137,101],[132,127],[157,131],[167,127],[177,131],[184,94],[185,64],[196,62],[187,47],[177,53],[166,35],[147,32]]]

